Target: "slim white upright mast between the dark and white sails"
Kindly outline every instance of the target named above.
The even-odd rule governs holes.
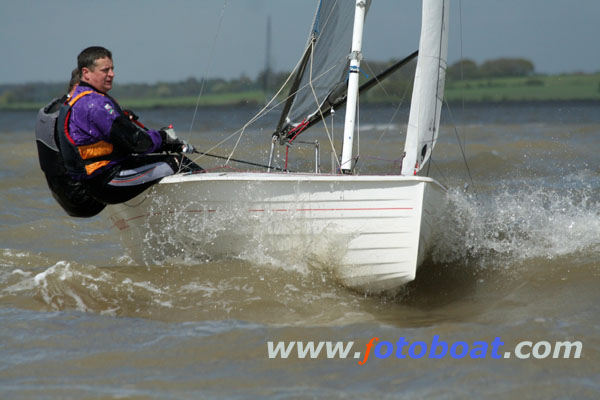
[[[352,33],[352,50],[350,52],[350,68],[348,76],[348,100],[346,103],[346,120],[344,123],[344,144],[342,147],[342,173],[352,173],[352,146],[354,143],[354,125],[358,101],[358,78],[360,61],[362,60],[362,34],[366,14],[366,1],[356,0],[354,11],[354,28]]]

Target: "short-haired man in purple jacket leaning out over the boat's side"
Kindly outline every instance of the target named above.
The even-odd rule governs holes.
[[[202,171],[181,154],[195,150],[172,128],[146,129],[108,95],[115,76],[109,50],[84,49],[77,68],[81,82],[61,106],[57,136],[67,173],[92,197],[103,204],[122,203],[165,176]]]

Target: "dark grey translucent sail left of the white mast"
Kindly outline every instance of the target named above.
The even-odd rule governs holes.
[[[367,8],[370,3],[366,1]],[[352,1],[319,2],[304,62],[297,71],[299,83],[290,94],[291,107],[286,107],[279,130],[298,126],[318,113],[324,102],[345,95],[354,9]]]

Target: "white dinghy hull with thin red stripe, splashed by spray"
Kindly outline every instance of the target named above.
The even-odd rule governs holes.
[[[175,175],[109,217],[139,263],[301,259],[378,293],[415,278],[444,193],[418,176]]]

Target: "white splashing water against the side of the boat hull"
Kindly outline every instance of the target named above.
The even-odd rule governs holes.
[[[225,205],[214,212],[193,201],[165,211],[167,200],[155,196],[151,201],[155,207],[149,209],[152,219],[142,239],[146,265],[241,260],[306,274],[339,265],[351,239],[334,234],[334,226],[307,227],[304,220],[276,211],[248,213]]]

